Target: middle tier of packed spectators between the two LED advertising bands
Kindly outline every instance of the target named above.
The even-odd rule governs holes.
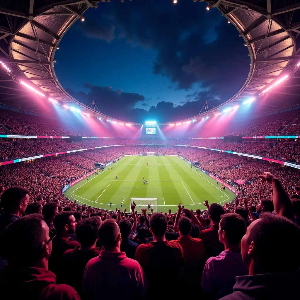
[[[128,142],[129,140],[129,142]],[[224,142],[222,140],[192,140],[192,139],[178,139],[179,145],[188,144],[190,146],[201,146],[211,149],[229,150],[240,153],[247,153],[251,155],[264,156],[268,158],[275,158],[279,160],[285,160],[290,162],[299,163],[298,153],[300,146],[297,141],[264,141],[264,140],[244,140],[241,143],[236,142]],[[172,139],[173,142],[173,139]],[[174,154],[173,147],[170,146],[149,146],[149,144],[158,145],[176,145],[176,142],[170,143],[170,140],[166,139],[99,139],[99,140],[84,140],[83,142],[70,143],[65,140],[19,140],[13,139],[0,139],[0,161],[8,159],[17,159],[47,153],[56,153],[77,149],[86,149],[99,146],[109,145],[144,145],[144,146],[124,146],[124,147],[108,147],[101,149],[101,162],[111,161],[112,158],[121,156],[123,154],[146,154],[147,152],[155,152],[155,154]],[[167,144],[170,143],[170,144]],[[178,152],[185,153],[183,147],[177,147]],[[99,153],[99,152],[97,152]],[[88,158],[95,158],[95,161],[99,161],[98,154],[89,152],[83,154]],[[196,160],[202,158],[201,150],[194,149],[194,155],[189,158]],[[216,154],[217,155],[217,154]],[[186,155],[184,155],[186,156]],[[197,157],[198,156],[198,157]]]

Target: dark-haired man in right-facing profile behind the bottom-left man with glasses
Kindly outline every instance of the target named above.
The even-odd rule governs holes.
[[[64,251],[80,246],[77,241],[70,238],[70,235],[75,232],[76,224],[72,211],[61,211],[53,220],[53,225],[57,234],[52,243],[52,253],[49,258],[49,270],[58,276],[57,282],[60,280],[61,258]]]

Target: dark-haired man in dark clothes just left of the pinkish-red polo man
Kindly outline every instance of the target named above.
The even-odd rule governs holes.
[[[64,283],[72,286],[82,296],[83,272],[88,261],[99,255],[96,248],[98,229],[101,219],[99,217],[85,218],[76,226],[75,233],[80,246],[64,252],[62,256],[62,276]]]

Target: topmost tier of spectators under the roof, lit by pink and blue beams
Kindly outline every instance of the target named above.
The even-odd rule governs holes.
[[[78,124],[63,123],[12,110],[0,109],[0,134],[32,136],[81,137],[226,137],[226,136],[283,136],[300,134],[300,110],[291,110],[254,119],[223,120],[213,116],[188,124],[160,125],[155,135],[146,135],[146,126],[119,125],[103,120]]]

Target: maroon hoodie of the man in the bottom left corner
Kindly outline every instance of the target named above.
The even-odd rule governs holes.
[[[56,284],[55,279],[55,274],[46,269],[6,265],[0,273],[1,300],[80,300],[75,289]]]

